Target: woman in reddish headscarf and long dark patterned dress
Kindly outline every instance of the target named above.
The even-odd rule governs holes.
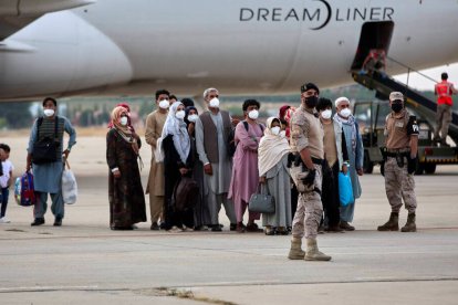
[[[110,167],[110,228],[133,230],[146,221],[145,197],[138,169],[142,141],[128,127],[128,112],[117,106],[112,112],[112,128],[106,135],[106,162]]]

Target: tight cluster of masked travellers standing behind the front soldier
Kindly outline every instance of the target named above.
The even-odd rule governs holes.
[[[330,232],[353,231],[351,222],[355,203],[341,207],[337,176],[342,170],[348,172],[354,198],[361,196],[357,176],[363,175],[362,138],[347,98],[335,101],[337,113],[332,117],[332,102],[319,99],[318,95],[315,85],[305,84],[302,87],[303,99],[313,97],[315,101],[312,107],[319,115],[315,136],[323,132],[324,137],[314,147],[316,151],[312,150],[316,154],[313,158],[320,160],[316,162],[322,162],[326,169],[323,175],[325,190],[320,197],[324,213],[323,210],[316,211],[318,221]],[[300,151],[294,152],[296,134],[305,128],[299,123],[294,125],[293,120],[302,108],[282,106],[279,116],[269,117],[264,125],[258,120],[261,107],[258,101],[244,101],[243,119],[239,120],[220,109],[218,97],[218,90],[206,90],[204,101],[207,109],[199,115],[192,101],[171,102],[168,91],[156,92],[156,109],[147,116],[145,130],[146,143],[153,151],[146,187],[150,229],[218,232],[222,230],[219,211],[223,206],[229,230],[240,233],[262,231],[256,222],[261,214],[249,208],[251,196],[260,192],[271,194],[275,202],[274,213],[262,214],[266,234],[289,234],[292,231],[294,235],[293,218],[299,210],[296,202],[298,198],[299,201],[303,199],[303,194],[291,182],[290,168]],[[128,117],[128,105],[118,105],[113,111],[112,127],[107,134],[113,230],[132,230],[136,222],[146,221],[136,161],[140,140]],[[309,140],[299,144],[306,146]],[[158,158],[159,155],[164,158]],[[199,186],[198,200],[186,210],[174,206],[181,177],[190,177]],[[247,208],[248,221],[243,223]],[[301,211],[304,213],[304,210]]]

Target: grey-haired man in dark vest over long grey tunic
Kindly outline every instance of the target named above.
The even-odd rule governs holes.
[[[204,182],[206,191],[204,204],[208,204],[211,231],[221,231],[219,211],[225,206],[230,229],[236,230],[233,203],[228,199],[232,160],[228,155],[228,138],[232,129],[228,112],[220,109],[219,93],[216,88],[204,92],[204,102],[208,111],[204,112],[196,122],[196,148],[204,164]]]

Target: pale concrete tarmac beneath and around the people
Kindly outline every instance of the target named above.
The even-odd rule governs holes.
[[[21,173],[24,139],[2,141]],[[150,151],[142,154],[145,186]],[[223,211],[222,232],[150,231],[146,222],[110,230],[104,158],[103,137],[79,139],[70,157],[79,200],[61,228],[51,211],[30,227],[32,208],[10,192],[0,304],[458,304],[458,166],[415,177],[416,233],[376,231],[389,206],[378,168],[364,175],[356,231],[320,234],[332,261],[305,262],[287,259],[291,235],[229,232]],[[406,218],[403,210],[400,225]]]

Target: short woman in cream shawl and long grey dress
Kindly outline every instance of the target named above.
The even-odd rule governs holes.
[[[264,136],[259,143],[258,167],[259,180],[268,193],[275,199],[275,212],[262,214],[266,235],[288,234],[291,227],[291,192],[288,169],[288,139],[280,133],[281,123],[277,117],[269,117]]]

